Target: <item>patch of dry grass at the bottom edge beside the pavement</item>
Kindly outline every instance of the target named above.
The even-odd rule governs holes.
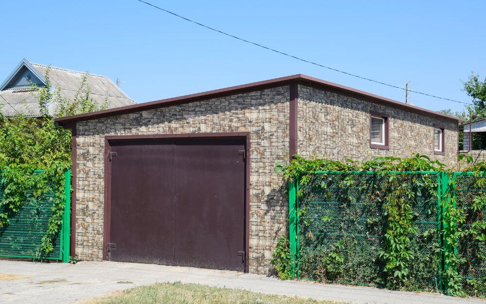
[[[89,303],[335,303],[297,297],[283,297],[240,289],[217,288],[181,282],[130,288],[116,294],[91,299]]]

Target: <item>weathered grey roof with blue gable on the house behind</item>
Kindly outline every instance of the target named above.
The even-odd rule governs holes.
[[[0,85],[0,96],[8,102],[5,104],[5,101],[0,98],[0,103],[3,104],[1,112],[5,116],[15,116],[18,112],[27,116],[39,116],[40,108],[32,83],[37,86],[45,86],[48,69],[52,86],[59,87],[63,97],[73,100],[86,75],[86,87],[90,89],[90,97],[100,104],[105,100],[108,101],[108,108],[136,104],[105,76],[33,64],[24,58]],[[55,110],[55,107],[55,104],[51,104],[51,111]]]

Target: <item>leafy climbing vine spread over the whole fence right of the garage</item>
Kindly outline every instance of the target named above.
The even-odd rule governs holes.
[[[440,291],[442,280],[450,295],[485,296],[486,165],[460,161],[475,172],[462,198],[459,178],[419,154],[277,163],[285,180],[299,182],[299,277],[429,291]],[[444,174],[450,184],[441,193]]]

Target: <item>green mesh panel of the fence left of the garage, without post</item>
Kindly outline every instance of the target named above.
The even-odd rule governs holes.
[[[4,189],[5,185],[0,182],[0,200]],[[46,234],[48,221],[52,216],[53,199],[53,189],[48,190],[41,198],[35,198],[32,193],[27,195],[27,201],[10,219],[10,223],[0,229],[0,256],[38,257],[41,239]],[[62,258],[61,233],[54,239],[54,250],[47,258]]]

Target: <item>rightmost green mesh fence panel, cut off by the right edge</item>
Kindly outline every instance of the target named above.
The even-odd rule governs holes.
[[[485,210],[473,210],[471,208],[474,198],[484,197],[483,187],[478,186],[477,180],[484,178],[472,173],[454,173],[455,180],[454,196],[455,207],[463,208],[466,213],[464,224],[458,224],[458,228],[469,229],[476,223],[486,225]],[[486,233],[485,228],[479,229],[480,233]],[[464,263],[458,267],[459,273],[463,276],[463,287],[470,295],[486,296],[486,243],[476,239],[476,235],[465,235],[459,239],[459,246],[456,249],[460,256],[466,258]]]

